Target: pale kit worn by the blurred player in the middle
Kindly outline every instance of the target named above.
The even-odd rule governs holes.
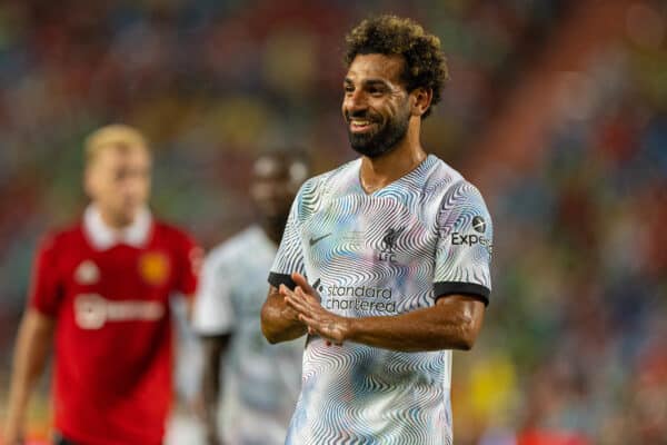
[[[197,333],[230,334],[220,416],[233,444],[282,444],[300,389],[303,340],[271,346],[261,335],[266,285],[258,277],[275,256],[275,243],[251,226],[213,249],[201,274]]]

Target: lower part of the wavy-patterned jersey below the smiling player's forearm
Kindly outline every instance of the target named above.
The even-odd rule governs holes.
[[[446,431],[442,421],[446,415],[441,407],[445,395],[441,390],[434,392],[430,382],[420,382],[415,377],[415,366],[410,366],[410,362],[415,360],[414,354],[355,344],[341,348],[327,347],[317,339],[309,342],[308,352],[311,354],[310,363],[320,363],[306,372],[308,377],[303,380],[305,387],[309,386],[310,378],[320,375],[321,366],[336,366],[339,375],[349,378],[325,382],[316,409],[309,409],[307,414],[308,434],[297,434],[288,443],[442,443],[442,437],[434,437],[430,428],[436,426],[438,431]],[[445,369],[441,353],[431,353],[431,356],[430,367],[419,370],[441,375]],[[416,360],[418,364],[422,362]],[[348,367],[340,368],[341,363]],[[392,366],[368,368],[367,365],[372,363]],[[398,397],[395,396],[397,393]],[[431,406],[434,409],[416,409],[416,406]]]

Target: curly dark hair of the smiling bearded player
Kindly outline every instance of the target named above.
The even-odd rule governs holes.
[[[346,36],[345,42],[344,61],[347,68],[357,55],[402,56],[405,65],[401,80],[406,89],[426,88],[434,95],[431,107],[421,116],[422,119],[440,101],[440,91],[449,79],[440,39],[427,33],[416,21],[390,14],[371,17],[355,27]]]

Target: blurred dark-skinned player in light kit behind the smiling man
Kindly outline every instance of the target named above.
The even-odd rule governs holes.
[[[205,261],[193,324],[205,350],[202,389],[210,445],[220,437],[233,445],[285,443],[299,395],[303,342],[269,345],[259,314],[267,270],[307,174],[302,157],[291,151],[260,156],[250,188],[257,224],[213,249]],[[225,399],[218,409],[220,393]]]

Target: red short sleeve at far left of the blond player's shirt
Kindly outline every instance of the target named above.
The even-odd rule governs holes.
[[[40,243],[32,266],[28,297],[30,307],[48,316],[56,316],[64,294],[57,253],[54,237],[46,237]]]

